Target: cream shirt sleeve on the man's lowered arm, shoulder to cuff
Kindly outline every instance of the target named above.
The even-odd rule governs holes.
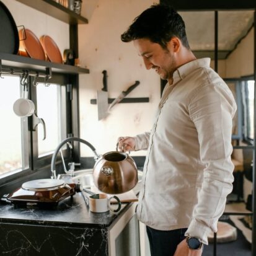
[[[198,131],[200,159],[205,164],[198,203],[186,236],[197,237],[208,244],[210,231],[217,231],[219,217],[232,192],[234,165],[231,161],[232,118],[236,102],[224,82],[208,84],[196,92],[189,113]]]

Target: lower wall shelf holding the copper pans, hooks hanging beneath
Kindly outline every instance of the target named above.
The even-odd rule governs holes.
[[[45,71],[51,68],[53,73],[63,74],[89,74],[89,69],[66,64],[52,63],[50,61],[35,60],[29,57],[0,53],[0,60],[3,67],[30,69],[33,71]]]

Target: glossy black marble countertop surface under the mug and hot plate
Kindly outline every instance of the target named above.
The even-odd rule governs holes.
[[[19,208],[12,204],[0,203],[0,221],[1,223],[23,223],[23,224],[41,224],[54,226],[91,226],[91,227],[109,227],[115,219],[120,216],[130,203],[123,203],[121,211],[112,213],[92,213],[89,206],[86,205],[82,193],[76,193],[73,197],[60,201],[58,206],[51,209],[41,209],[37,206],[27,206]]]

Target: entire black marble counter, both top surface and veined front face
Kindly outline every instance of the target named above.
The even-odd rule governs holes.
[[[126,205],[92,213],[81,193],[51,209],[0,204],[0,255],[108,255],[108,228]]]

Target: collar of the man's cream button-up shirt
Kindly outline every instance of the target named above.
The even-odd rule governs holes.
[[[182,66],[180,66],[179,68],[177,68],[174,71],[173,84],[180,81],[181,79],[184,79],[188,74],[190,74],[195,69],[203,68],[203,67],[210,67],[210,61],[211,61],[210,58],[202,58],[202,59],[193,60],[186,64],[183,64]]]

